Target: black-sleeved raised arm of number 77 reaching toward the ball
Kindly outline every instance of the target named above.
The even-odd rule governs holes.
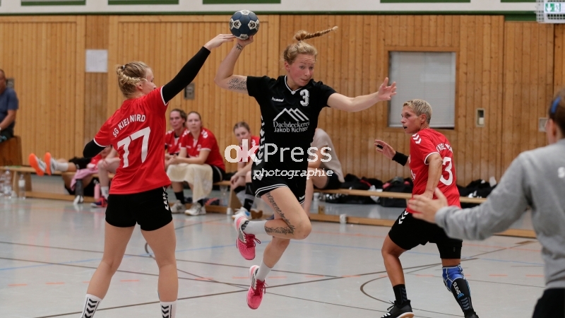
[[[194,57],[192,57],[192,59],[184,64],[177,76],[174,76],[174,78],[169,83],[163,86],[162,95],[165,103],[169,102],[169,100],[172,100],[174,96],[176,96],[186,86],[194,81],[194,78],[196,78],[196,75],[198,75],[198,71],[200,71],[200,69],[204,65],[204,62],[206,62],[206,59],[208,59],[208,55],[210,55],[211,49],[215,49],[225,42],[232,42],[234,38],[235,37],[233,35],[220,34],[214,37],[212,40],[208,41],[208,43],[206,43],[200,49],[200,51],[198,51],[194,55]]]

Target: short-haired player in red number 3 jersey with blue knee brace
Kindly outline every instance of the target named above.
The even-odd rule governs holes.
[[[398,153],[381,140],[375,140],[376,150],[400,165],[409,163],[414,181],[412,196],[420,194],[432,199],[434,190],[439,187],[451,206],[460,206],[453,149],[446,136],[429,128],[432,107],[425,100],[408,100],[403,105],[401,115],[400,123],[404,132],[412,135],[410,156]],[[407,208],[400,214],[383,242],[381,252],[396,301],[389,308],[390,312],[381,318],[414,317],[406,293],[400,254],[427,242],[436,243],[443,266],[444,283],[453,293],[465,318],[478,318],[472,307],[469,284],[460,266],[463,241],[448,237],[446,232],[435,224],[414,218],[413,212]]]

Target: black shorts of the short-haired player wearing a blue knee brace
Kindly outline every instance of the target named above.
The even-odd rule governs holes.
[[[390,231],[388,237],[394,244],[402,249],[413,249],[418,245],[426,245],[427,242],[436,243],[439,257],[442,259],[460,259],[462,240],[452,239],[446,235],[444,229],[439,226],[418,220],[412,213],[404,211]]]

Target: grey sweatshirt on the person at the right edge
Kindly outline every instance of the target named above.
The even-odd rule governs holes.
[[[518,155],[480,206],[441,208],[435,220],[450,237],[484,240],[509,228],[528,206],[543,247],[546,288],[565,288],[565,139]]]

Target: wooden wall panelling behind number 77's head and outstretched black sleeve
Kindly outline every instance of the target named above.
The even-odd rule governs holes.
[[[109,20],[110,64],[133,59],[145,61],[152,67],[157,85],[163,85],[208,40],[218,33],[227,33],[229,19],[229,16],[112,16]],[[136,33],[149,33],[151,36],[148,38],[153,41],[137,42],[140,37],[134,37]],[[159,34],[170,37],[157,37]],[[171,41],[171,38],[174,40]],[[150,44],[147,45],[147,42]],[[169,103],[169,109],[177,107],[186,112],[199,112],[203,126],[213,131],[218,139],[222,154],[226,146],[237,142],[232,132],[235,122],[249,122],[254,134],[258,134],[260,128],[260,115],[254,99],[245,94],[220,90],[213,82],[220,61],[233,45],[228,43],[210,54],[194,80],[195,100],[184,100],[180,93]],[[244,49],[234,73],[277,76],[278,54],[272,56],[272,52],[278,52],[278,16],[262,16],[261,31],[254,43]],[[115,76],[109,78],[107,89],[109,116],[121,105],[123,98]],[[235,168],[235,164],[227,163],[228,171]]]

